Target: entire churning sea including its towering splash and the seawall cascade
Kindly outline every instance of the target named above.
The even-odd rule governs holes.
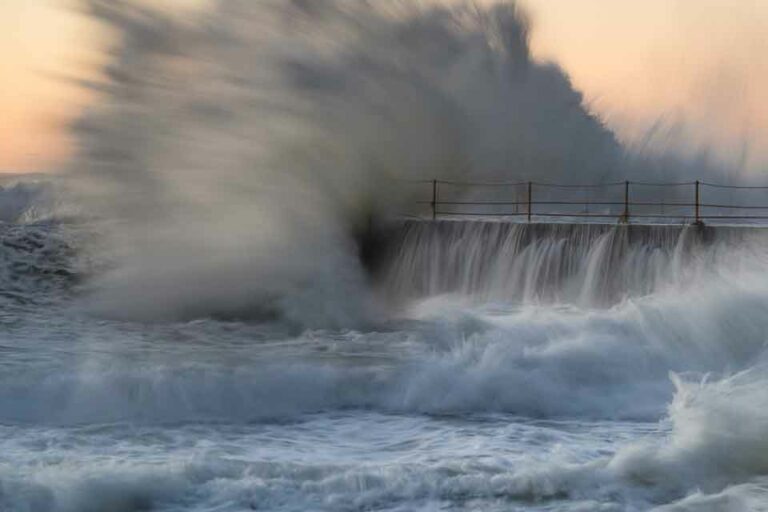
[[[0,510],[768,510],[765,228],[402,215],[690,176],[514,3],[88,5],[80,152],[0,188]]]

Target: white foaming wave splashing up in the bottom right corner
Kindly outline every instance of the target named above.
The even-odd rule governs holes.
[[[589,464],[522,470],[509,479],[507,490],[537,499],[586,495],[600,500],[620,492],[632,510],[764,510],[764,358],[719,377],[672,373],[671,378],[676,392],[665,438],[630,443]]]

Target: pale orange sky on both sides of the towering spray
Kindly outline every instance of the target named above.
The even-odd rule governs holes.
[[[0,0],[0,171],[52,171],[72,151],[67,122],[90,100],[72,78],[95,68],[107,37],[76,2]],[[768,1],[521,4],[536,57],[562,66],[624,142],[653,134],[758,172],[768,163]]]

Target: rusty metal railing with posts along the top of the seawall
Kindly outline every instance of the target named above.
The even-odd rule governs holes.
[[[430,186],[417,200],[432,219],[445,216],[647,220],[669,223],[768,222],[768,186],[720,185],[704,181],[620,181],[559,184],[535,181],[414,181]]]

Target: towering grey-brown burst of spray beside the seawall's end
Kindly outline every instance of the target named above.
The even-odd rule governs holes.
[[[355,325],[375,311],[355,235],[413,199],[398,180],[596,181],[622,158],[514,2],[90,12],[119,42],[73,175],[111,223],[111,316]]]

